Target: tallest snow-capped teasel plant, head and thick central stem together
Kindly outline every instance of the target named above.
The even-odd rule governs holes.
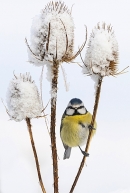
[[[46,65],[49,72],[47,78],[51,81],[50,136],[54,192],[58,193],[58,162],[55,135],[58,69],[59,64],[71,62],[80,54],[87,41],[87,29],[85,42],[74,54],[74,22],[71,10],[67,8],[64,2],[51,1],[34,18],[31,32],[31,46],[26,40],[29,61],[36,66]]]

